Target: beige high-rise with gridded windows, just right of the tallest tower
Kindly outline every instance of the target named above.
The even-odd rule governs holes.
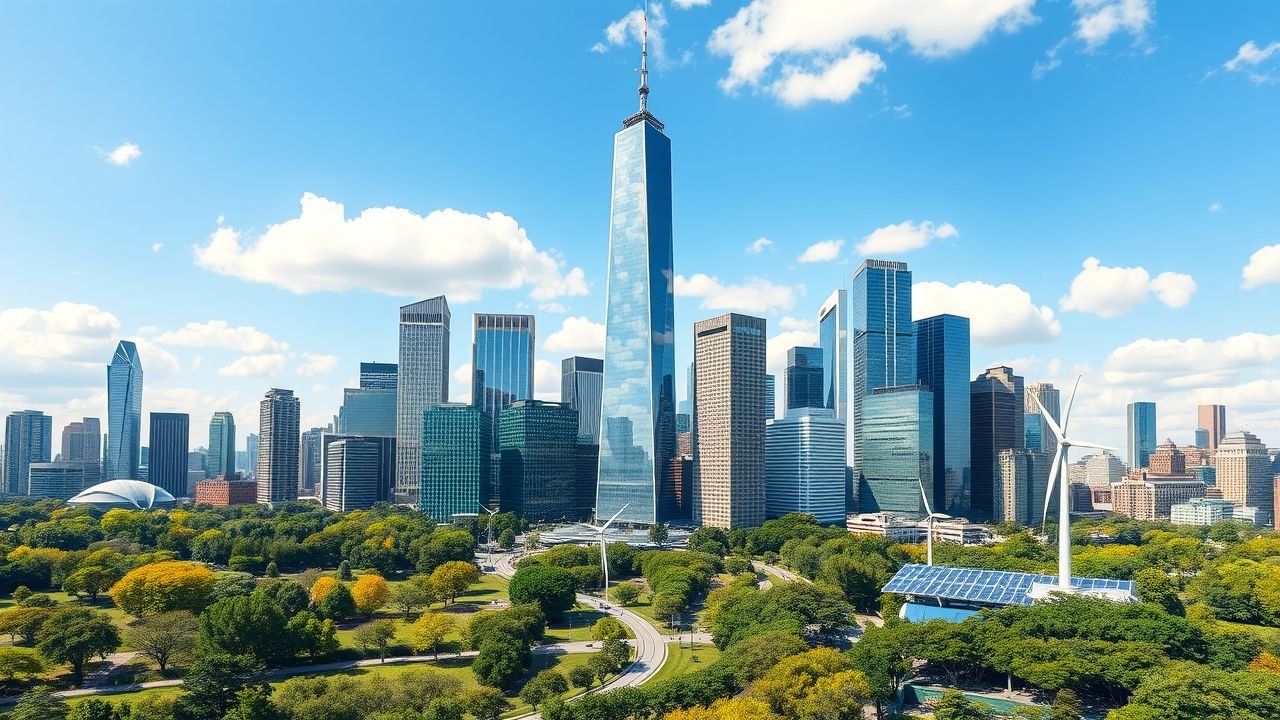
[[[694,323],[694,523],[764,521],[764,347],[763,318],[728,313]]]

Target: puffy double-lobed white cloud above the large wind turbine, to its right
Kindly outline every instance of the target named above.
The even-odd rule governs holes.
[[[1161,273],[1152,278],[1146,268],[1107,268],[1097,258],[1088,258],[1059,307],[1115,318],[1152,295],[1170,307],[1185,307],[1194,293],[1196,281],[1190,275]]]

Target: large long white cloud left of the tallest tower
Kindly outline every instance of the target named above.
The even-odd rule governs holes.
[[[563,272],[562,263],[535,247],[509,215],[370,208],[347,219],[340,202],[310,192],[302,196],[297,218],[246,242],[239,231],[221,225],[195,252],[196,264],[207,270],[296,293],[443,292],[457,302],[477,300],[485,290],[526,286],[534,300],[588,293],[582,269]]]

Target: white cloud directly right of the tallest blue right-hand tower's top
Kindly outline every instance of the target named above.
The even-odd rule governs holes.
[[[1010,283],[963,282],[952,287],[922,282],[911,288],[911,300],[914,319],[963,315],[969,318],[973,340],[984,345],[1048,342],[1062,334],[1052,309],[1036,305],[1025,290]]]

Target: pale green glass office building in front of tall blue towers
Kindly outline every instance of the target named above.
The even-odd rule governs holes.
[[[863,398],[861,512],[922,516],[920,486],[933,492],[933,393],[923,386],[881,387]]]

